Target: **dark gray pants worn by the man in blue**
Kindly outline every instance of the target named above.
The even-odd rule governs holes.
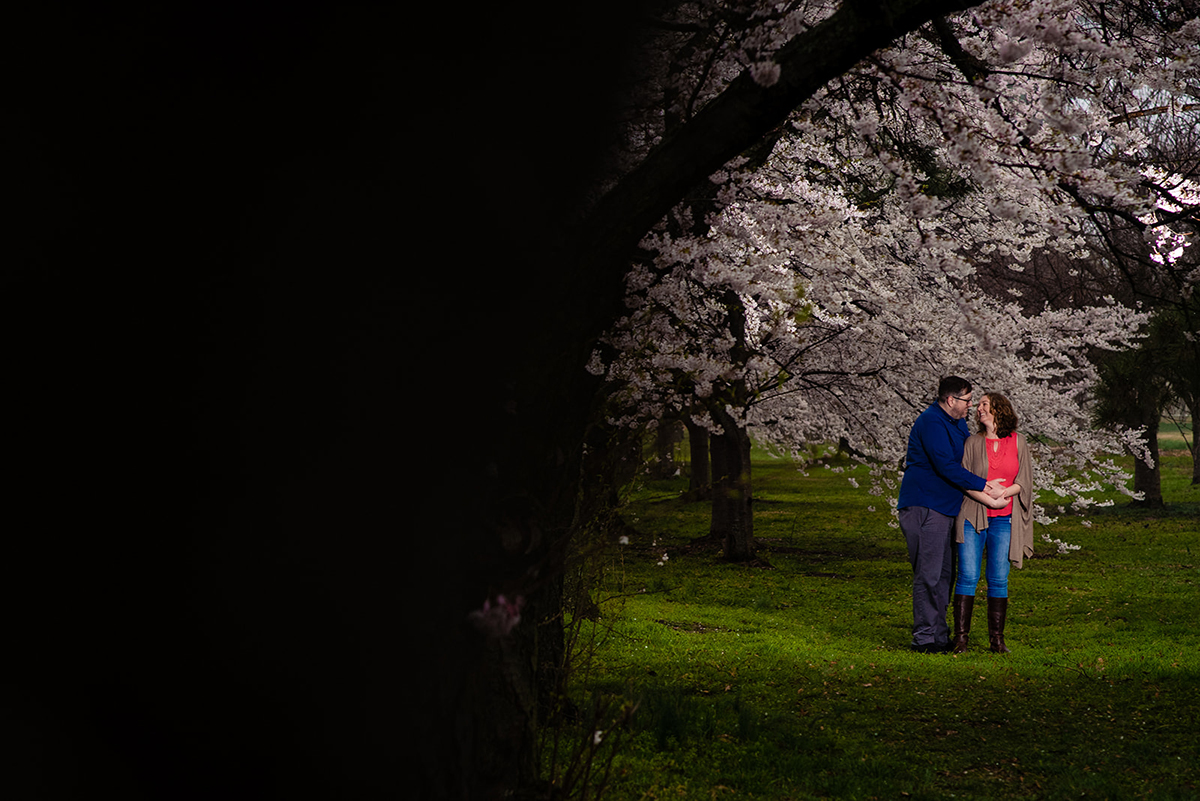
[[[906,506],[900,530],[912,565],[912,646],[949,644],[946,608],[954,589],[954,518],[924,506]]]

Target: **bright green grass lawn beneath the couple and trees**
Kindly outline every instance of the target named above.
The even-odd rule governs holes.
[[[967,654],[907,650],[902,536],[841,466],[755,463],[752,566],[695,541],[708,508],[680,481],[635,493],[572,680],[581,709],[638,704],[619,733],[583,716],[604,797],[1200,797],[1189,457],[1164,458],[1168,510],[1063,518],[1066,555],[1039,538],[1010,577],[1008,656],[979,648],[982,603]]]

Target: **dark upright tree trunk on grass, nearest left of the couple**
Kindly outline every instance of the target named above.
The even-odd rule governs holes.
[[[755,558],[750,487],[750,436],[724,410],[714,416],[722,433],[713,436],[713,523],[730,561]]]

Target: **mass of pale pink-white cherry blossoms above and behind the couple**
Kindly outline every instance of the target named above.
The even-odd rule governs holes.
[[[680,56],[666,118],[742,68],[769,85],[772,53],[832,8],[739,7],[761,24],[702,72]],[[706,224],[682,206],[646,239],[653,259],[630,270],[628,314],[589,365],[614,387],[613,422],[686,415],[718,432],[720,410],[800,458],[841,441],[894,505],[907,430],[938,377],[959,374],[1012,399],[1043,496],[1084,510],[1124,488],[1105,454],[1145,448],[1139,432],[1088,424],[1087,354],[1134,344],[1147,315],[1111,299],[1031,314],[974,277],[1039,249],[1086,253],[1097,206],[1178,258],[1186,237],[1157,221],[1200,206],[1195,185],[1139,164],[1146,138],[1122,112],[1200,86],[1200,24],[1115,20],[1079,0],[989,2],[948,24],[956,55],[932,30],[876,53],[798,109],[764,163],[713,176]],[[653,143],[638,131],[631,141]]]

